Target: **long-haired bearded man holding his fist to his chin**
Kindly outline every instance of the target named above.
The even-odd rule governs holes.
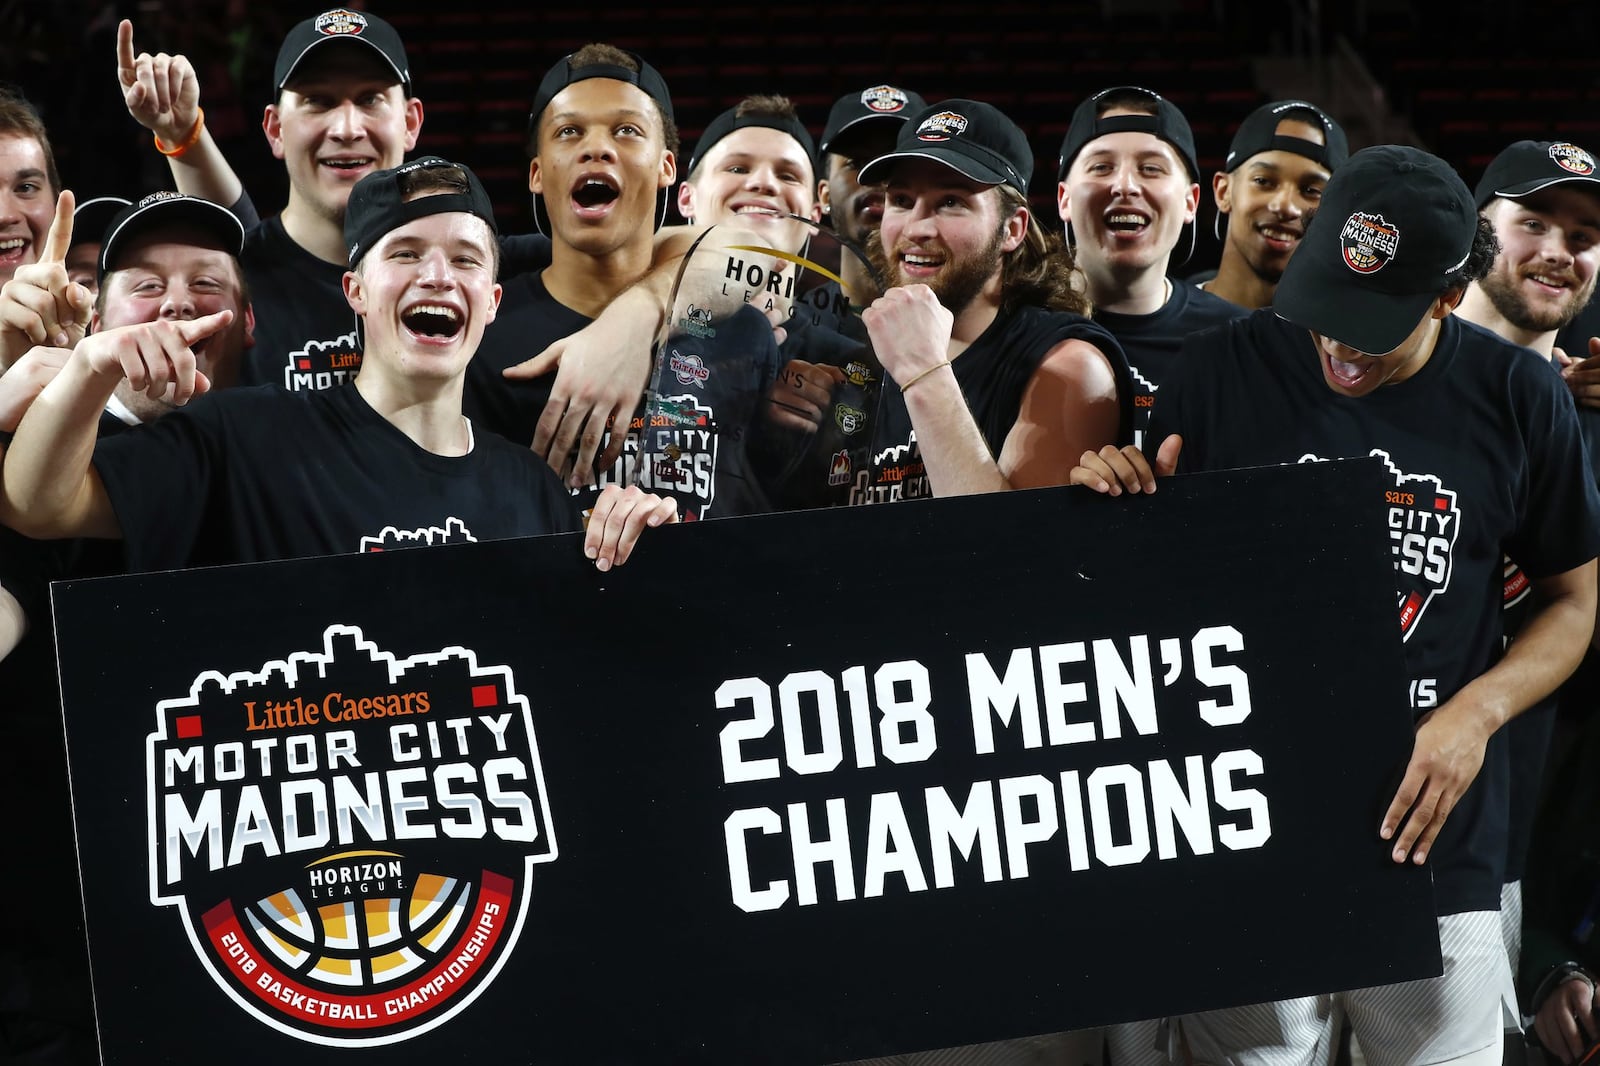
[[[862,168],[885,186],[890,288],[862,322],[890,381],[850,503],[1061,485],[1085,450],[1131,440],[1122,349],[1029,211],[1032,171],[1022,131],[970,99],[923,109]]]

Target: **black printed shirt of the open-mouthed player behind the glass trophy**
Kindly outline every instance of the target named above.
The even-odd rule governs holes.
[[[506,282],[499,312],[467,365],[462,405],[474,424],[526,448],[555,375],[512,381],[501,371],[589,323],[550,296],[541,274]],[[672,323],[659,359],[654,403],[634,411],[622,458],[576,490],[579,507],[592,507],[606,485],[637,483],[672,496],[686,522],[770,511],[747,451],[778,373],[771,323],[750,306],[715,323]]]

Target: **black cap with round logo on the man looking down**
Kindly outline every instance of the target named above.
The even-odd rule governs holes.
[[[1400,347],[1472,254],[1478,211],[1437,155],[1362,149],[1328,179],[1272,298],[1282,319],[1368,355]]]

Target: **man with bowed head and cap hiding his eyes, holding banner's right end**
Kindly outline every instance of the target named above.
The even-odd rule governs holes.
[[[1397,533],[1416,738],[1378,832],[1392,861],[1432,866],[1445,959],[1438,978],[1176,1020],[1197,1061],[1269,1061],[1270,1048],[1270,1061],[1310,1063],[1341,1013],[1371,1063],[1501,1061],[1501,727],[1560,685],[1589,643],[1600,495],[1560,378],[1453,314],[1494,253],[1448,163],[1397,146],[1357,152],[1328,182],[1274,307],[1192,338],[1160,392],[1162,474],[1382,461],[1394,491],[1373,506]],[[1134,450],[1085,456],[1072,480],[1155,490]],[[1504,653],[1502,552],[1533,587]],[[1163,1061],[1141,1055],[1125,1058]]]

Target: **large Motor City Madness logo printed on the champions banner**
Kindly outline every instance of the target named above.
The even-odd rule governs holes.
[[[195,679],[146,739],[150,903],[267,1026],[406,1040],[510,956],[555,858],[528,701],[466,648],[322,651]]]

